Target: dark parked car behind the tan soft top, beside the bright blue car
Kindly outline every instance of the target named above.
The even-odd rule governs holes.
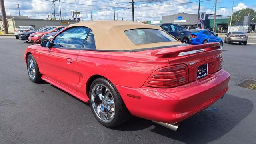
[[[164,29],[166,32],[177,38],[183,43],[190,44],[191,42],[191,32],[184,28],[183,26],[180,26],[178,24],[172,24],[172,23],[159,23],[159,24],[152,24],[155,26],[160,26],[162,29]]]

